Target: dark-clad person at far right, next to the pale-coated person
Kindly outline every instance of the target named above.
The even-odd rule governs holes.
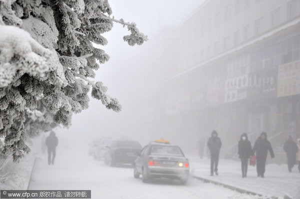
[[[283,150],[286,153],[288,171],[291,172],[291,169],[296,164],[298,152],[297,144],[292,140],[291,136],[288,136],[288,140],[283,145]]]

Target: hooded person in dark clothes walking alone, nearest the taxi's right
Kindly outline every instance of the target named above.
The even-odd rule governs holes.
[[[215,175],[218,175],[217,165],[221,146],[221,139],[217,137],[216,131],[213,130],[211,133],[211,137],[208,139],[207,142],[207,147],[210,152],[210,176],[213,176],[213,171]]]

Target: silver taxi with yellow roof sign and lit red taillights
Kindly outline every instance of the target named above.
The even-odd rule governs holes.
[[[189,175],[188,159],[178,146],[170,145],[165,140],[146,145],[134,161],[133,168],[134,178],[142,175],[144,183],[150,178],[168,178],[185,184]]]

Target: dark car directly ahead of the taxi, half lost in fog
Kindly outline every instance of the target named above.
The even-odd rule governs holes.
[[[115,140],[107,147],[104,163],[109,166],[116,164],[133,164],[140,154],[141,145],[133,140]]]

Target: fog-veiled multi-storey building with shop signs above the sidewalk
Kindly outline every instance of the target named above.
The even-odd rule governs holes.
[[[228,157],[243,132],[253,143],[265,131],[283,159],[300,137],[300,0],[206,0],[177,32],[166,129],[186,141],[215,129]]]

